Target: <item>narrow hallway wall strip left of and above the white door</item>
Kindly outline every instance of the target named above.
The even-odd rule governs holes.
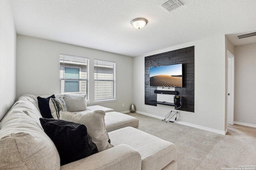
[[[235,55],[235,46],[231,43],[231,41],[225,36],[225,56],[226,56],[226,70],[225,70],[225,75],[226,75],[226,92],[225,92],[225,96],[226,96],[226,102],[225,102],[225,106],[226,106],[226,114],[225,114],[225,129],[228,128],[228,123],[227,123],[227,119],[228,119],[228,113],[227,113],[227,101],[228,101],[228,51],[230,53],[232,53],[233,55]]]

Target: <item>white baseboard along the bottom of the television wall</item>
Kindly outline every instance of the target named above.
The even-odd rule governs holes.
[[[141,111],[136,111],[136,113],[139,113],[139,114],[142,114],[142,115],[147,115],[147,116],[150,116],[150,117],[155,117],[155,118],[158,118],[158,119],[164,119],[164,117],[157,116],[157,115],[152,115],[152,114],[149,114],[149,113],[144,113],[144,112],[141,112]],[[174,121],[174,119],[170,119],[170,120]],[[208,128],[208,127],[204,127],[204,126],[200,126],[200,125],[194,125],[192,123],[182,122],[182,121],[175,121],[175,123],[190,126],[190,127],[195,127],[195,128],[198,128],[198,129],[202,129],[202,130],[206,130],[206,131],[210,131],[210,132],[214,132],[214,133],[218,133],[220,135],[225,135],[227,133],[227,129],[225,131],[220,131],[220,130],[216,130],[216,129],[212,129],[212,128]]]

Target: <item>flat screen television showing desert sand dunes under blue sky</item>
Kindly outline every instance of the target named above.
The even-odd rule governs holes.
[[[149,68],[150,86],[182,87],[182,64]]]

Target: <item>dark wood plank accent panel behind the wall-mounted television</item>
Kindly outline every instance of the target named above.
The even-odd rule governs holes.
[[[179,110],[194,112],[194,46],[145,57],[145,104],[157,106],[157,87],[150,87],[149,68],[182,63],[182,88],[175,88],[182,107]]]

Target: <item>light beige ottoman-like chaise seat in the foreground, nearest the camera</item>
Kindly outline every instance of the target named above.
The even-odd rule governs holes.
[[[109,136],[114,145],[126,144],[140,152],[142,170],[160,170],[176,159],[176,146],[173,143],[133,127],[112,131]]]

